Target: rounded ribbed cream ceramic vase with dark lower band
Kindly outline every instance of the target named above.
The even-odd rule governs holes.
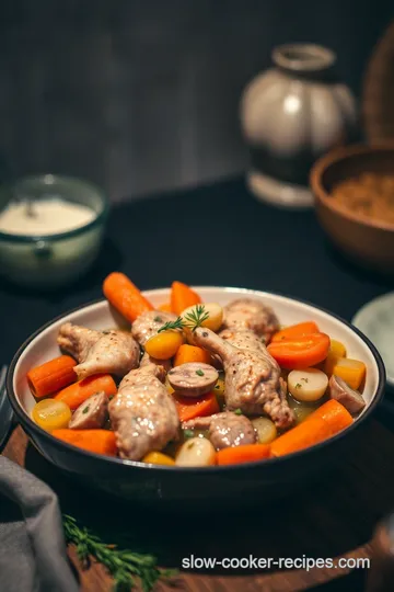
[[[335,54],[312,44],[274,49],[274,66],[246,87],[243,135],[251,153],[247,183],[262,201],[308,207],[313,162],[354,139],[356,104],[334,72]]]

